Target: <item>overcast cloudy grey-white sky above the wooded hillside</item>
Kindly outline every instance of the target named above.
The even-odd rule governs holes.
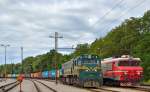
[[[7,62],[20,62],[21,46],[24,57],[48,52],[54,48],[54,39],[49,38],[54,32],[64,37],[59,40],[59,47],[91,43],[123,20],[140,17],[150,9],[150,0],[123,0],[112,9],[118,2],[120,0],[0,0],[0,44],[11,45],[7,49]],[[107,16],[102,17],[105,14]],[[3,47],[0,47],[0,64],[4,64]]]

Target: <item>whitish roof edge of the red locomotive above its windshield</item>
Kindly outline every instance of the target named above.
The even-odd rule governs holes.
[[[123,60],[136,60],[136,61],[141,61],[140,58],[109,58],[109,59],[104,59],[104,60],[102,60],[102,63],[116,62],[116,61],[123,61]]]

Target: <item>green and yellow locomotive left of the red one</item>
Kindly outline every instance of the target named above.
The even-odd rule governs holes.
[[[81,87],[99,87],[102,85],[101,60],[97,55],[81,55],[62,64],[65,84]]]

